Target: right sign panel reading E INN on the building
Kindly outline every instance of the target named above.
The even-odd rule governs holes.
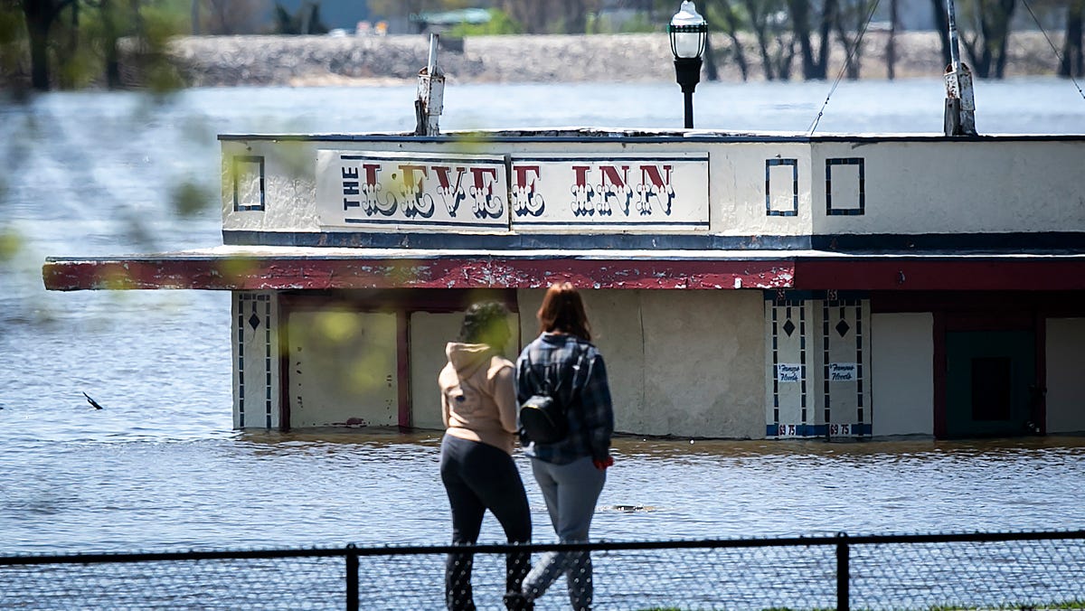
[[[709,229],[709,154],[514,155],[514,230]]]

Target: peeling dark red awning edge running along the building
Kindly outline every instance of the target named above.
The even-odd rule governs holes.
[[[1085,256],[353,258],[183,256],[50,259],[53,291],[111,289],[797,289],[901,291],[1085,290]]]

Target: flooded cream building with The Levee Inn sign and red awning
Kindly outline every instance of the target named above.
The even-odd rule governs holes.
[[[1085,431],[1085,136],[220,141],[222,245],[43,276],[230,291],[239,429],[439,429],[467,306],[518,313],[513,352],[567,280],[622,432]]]

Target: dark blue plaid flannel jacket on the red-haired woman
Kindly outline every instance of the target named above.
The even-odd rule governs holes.
[[[593,345],[573,335],[542,333],[516,359],[518,403],[546,392],[548,373],[550,382],[558,385],[556,398],[566,406],[569,435],[552,444],[522,438],[531,442],[525,445],[524,454],[554,464],[567,464],[585,456],[607,458],[614,432],[614,410],[602,355]]]

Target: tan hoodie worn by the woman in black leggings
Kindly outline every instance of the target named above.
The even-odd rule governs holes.
[[[449,435],[512,454],[516,392],[512,362],[486,344],[449,342],[441,370],[441,417]]]

